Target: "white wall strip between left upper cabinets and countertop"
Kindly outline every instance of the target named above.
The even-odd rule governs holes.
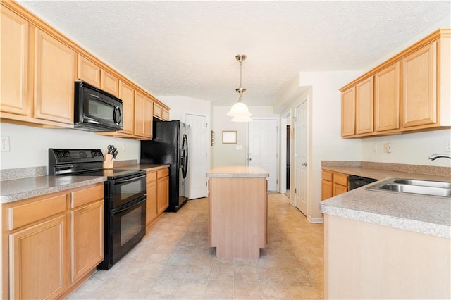
[[[73,129],[49,129],[1,123],[1,136],[9,137],[9,152],[0,152],[0,169],[47,166],[49,148],[101,149],[113,144],[118,161],[140,159],[140,142],[134,139],[104,137]]]

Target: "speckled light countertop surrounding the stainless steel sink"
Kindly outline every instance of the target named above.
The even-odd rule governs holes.
[[[451,182],[451,177],[447,176],[447,168],[429,168],[429,174],[416,173],[417,170],[414,169],[412,170],[415,173],[412,173],[411,169],[404,169],[402,166],[397,170],[366,168],[359,165],[322,165],[321,168],[378,180],[398,177]],[[374,184],[321,201],[321,213],[451,238],[451,198],[366,189]]]

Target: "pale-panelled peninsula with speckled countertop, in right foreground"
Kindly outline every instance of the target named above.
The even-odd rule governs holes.
[[[450,299],[449,197],[361,187],[321,212],[324,299]]]

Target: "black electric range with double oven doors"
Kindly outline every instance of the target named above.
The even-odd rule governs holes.
[[[104,261],[109,269],[144,237],[146,232],[146,172],[103,169],[100,149],[49,149],[49,175],[105,176]]]

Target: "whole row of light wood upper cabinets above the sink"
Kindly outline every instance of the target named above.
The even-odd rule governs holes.
[[[450,128],[450,82],[451,30],[437,30],[340,89],[342,137]]]

